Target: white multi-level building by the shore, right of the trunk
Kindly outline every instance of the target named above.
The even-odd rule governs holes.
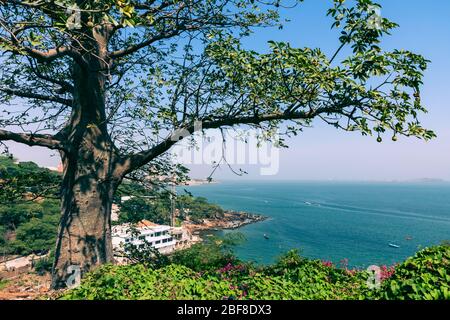
[[[137,231],[134,234],[133,229]],[[177,244],[177,240],[172,236],[171,229],[170,226],[158,225],[147,220],[142,220],[136,225],[126,223],[114,226],[112,228],[113,248],[123,251],[124,246],[128,243],[135,245],[137,248],[144,248],[145,241],[147,241],[159,252],[170,253]]]

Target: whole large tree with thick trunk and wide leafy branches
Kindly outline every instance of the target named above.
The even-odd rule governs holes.
[[[143,167],[173,171],[167,151],[199,122],[258,127],[278,142],[276,128],[295,134],[313,119],[379,141],[433,137],[417,119],[427,61],[380,48],[396,24],[372,1],[331,4],[335,52],[242,49],[296,2],[1,0],[0,142],[57,150],[64,168],[53,287],[71,265],[113,260],[118,185]]]

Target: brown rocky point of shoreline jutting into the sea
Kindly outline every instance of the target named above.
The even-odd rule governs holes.
[[[268,217],[244,211],[226,211],[216,219],[203,219],[201,223],[184,222],[183,226],[195,234],[205,230],[237,229],[250,223],[266,220]]]

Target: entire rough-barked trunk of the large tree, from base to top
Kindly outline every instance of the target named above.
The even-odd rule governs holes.
[[[122,176],[115,174],[119,152],[109,136],[105,114],[106,42],[99,33],[94,37],[98,41],[86,46],[97,55],[85,58],[88,67],[74,64],[72,113],[62,133],[68,149],[61,151],[64,172],[52,271],[55,289],[67,287],[77,276],[75,270],[82,276],[113,262],[111,206]]]

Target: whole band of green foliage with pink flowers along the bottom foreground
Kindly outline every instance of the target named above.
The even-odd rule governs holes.
[[[187,256],[188,257],[188,256]],[[424,249],[370,290],[366,271],[336,268],[291,251],[268,267],[235,261],[211,271],[169,264],[105,265],[63,299],[450,299],[450,247]]]

